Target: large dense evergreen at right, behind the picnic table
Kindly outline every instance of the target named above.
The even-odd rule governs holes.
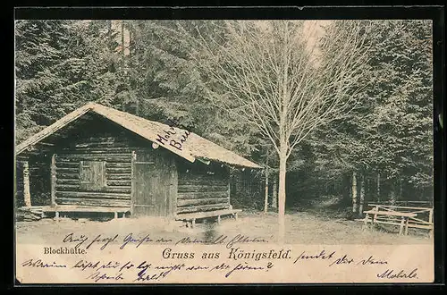
[[[314,134],[316,167],[337,177],[352,171],[375,179],[378,174],[389,190],[402,183],[411,192],[405,198],[421,198],[432,187],[430,23],[375,21],[374,26],[369,69],[357,86],[364,87],[362,99],[348,120]]]

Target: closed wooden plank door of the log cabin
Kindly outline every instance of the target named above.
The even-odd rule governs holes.
[[[134,199],[132,215],[167,215],[167,191],[164,190],[160,159],[148,153],[136,153],[134,159]]]

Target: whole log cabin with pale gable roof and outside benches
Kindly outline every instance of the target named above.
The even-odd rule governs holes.
[[[89,103],[16,147],[24,206],[42,215],[237,216],[232,169],[262,167],[195,133]],[[19,188],[21,188],[19,190]]]

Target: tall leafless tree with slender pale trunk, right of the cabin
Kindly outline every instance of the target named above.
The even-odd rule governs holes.
[[[287,159],[316,127],[350,111],[366,66],[365,26],[335,24],[226,21],[224,40],[196,38],[193,59],[209,78],[211,101],[255,124],[278,153],[280,241]]]

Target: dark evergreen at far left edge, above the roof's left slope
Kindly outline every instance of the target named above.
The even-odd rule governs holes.
[[[51,71],[64,58],[70,21],[15,22],[17,138],[26,138],[54,118],[42,108],[61,84]]]

